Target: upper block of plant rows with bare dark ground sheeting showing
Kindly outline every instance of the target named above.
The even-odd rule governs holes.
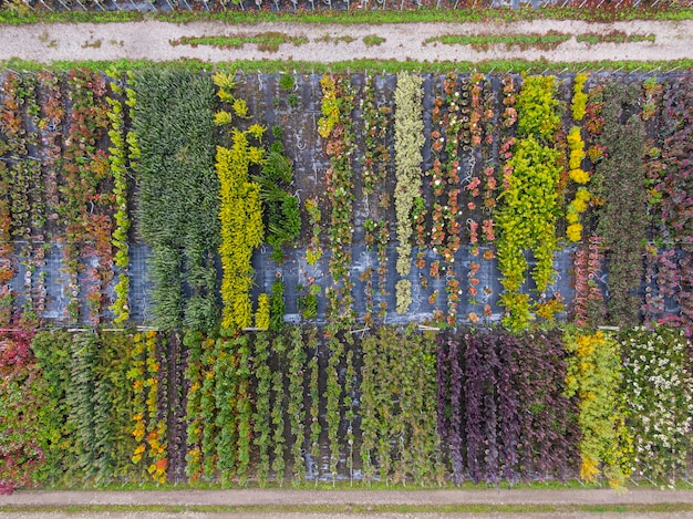
[[[689,323],[691,84],[8,71],[2,320]]]

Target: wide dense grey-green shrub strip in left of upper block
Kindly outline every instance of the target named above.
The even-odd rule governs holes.
[[[152,248],[147,302],[151,322],[161,330],[186,324],[210,332],[219,323],[215,108],[209,75],[149,69],[137,77],[137,231]]]

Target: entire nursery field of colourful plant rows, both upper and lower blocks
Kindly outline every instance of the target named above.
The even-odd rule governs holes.
[[[687,480],[692,122],[690,69],[2,70],[0,491]]]

